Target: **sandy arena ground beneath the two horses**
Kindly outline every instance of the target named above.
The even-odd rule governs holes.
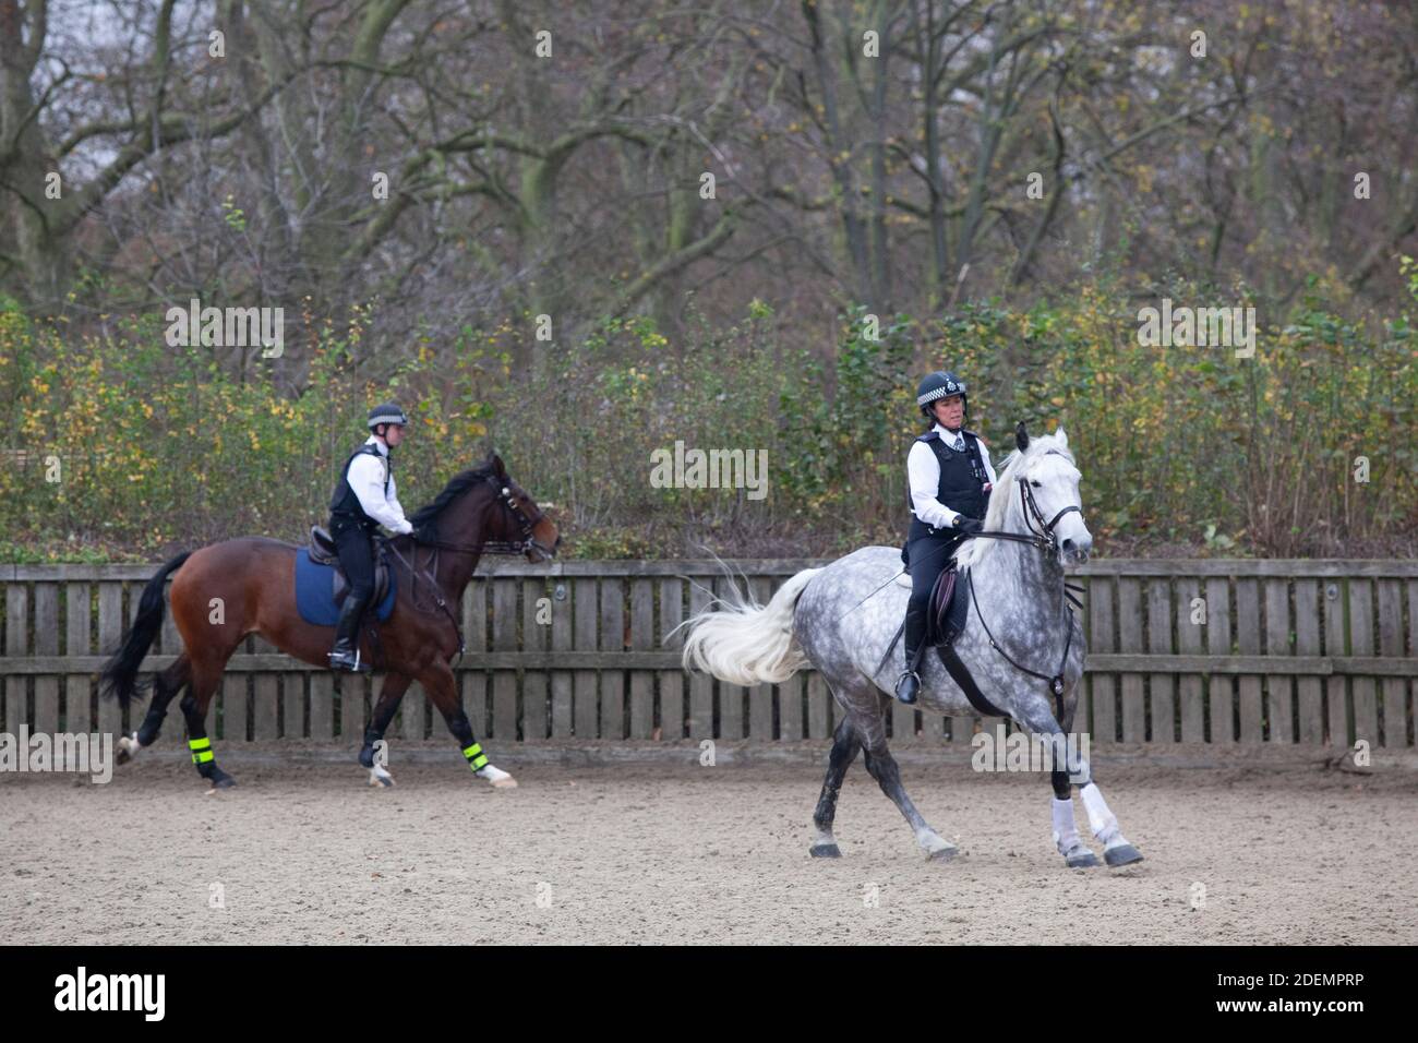
[[[172,745],[164,739],[164,745]],[[447,744],[444,744],[447,745]],[[441,749],[441,748],[438,748]],[[858,761],[844,857],[808,857],[822,765],[566,766],[520,786],[430,746],[353,763],[247,748],[207,795],[170,752],[112,783],[0,778],[0,937],[28,942],[1418,942],[1418,772],[1109,765],[1146,861],[1064,867],[1038,775],[902,758],[963,853],[927,863]],[[340,754],[347,756],[349,751]],[[437,762],[434,762],[437,761]],[[1075,800],[1081,827],[1082,802]],[[1086,830],[1085,830],[1086,833]],[[1098,850],[1098,844],[1093,844]],[[208,898],[220,883],[224,907]],[[1205,888],[1193,908],[1194,884]],[[875,895],[875,904],[872,897]]]

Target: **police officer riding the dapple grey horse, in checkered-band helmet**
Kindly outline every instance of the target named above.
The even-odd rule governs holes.
[[[910,570],[906,670],[896,681],[896,698],[902,702],[915,702],[920,694],[930,590],[966,536],[984,525],[994,488],[990,447],[963,426],[970,410],[966,382],[954,373],[930,373],[916,389],[916,404],[934,423],[906,456],[912,519],[903,555]]]

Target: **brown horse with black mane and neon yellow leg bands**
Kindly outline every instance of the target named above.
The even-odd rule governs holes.
[[[488,762],[458,700],[451,663],[462,651],[462,634],[454,613],[484,552],[526,553],[532,562],[549,561],[560,535],[512,481],[496,456],[455,475],[408,521],[417,536],[387,541],[396,579],[393,614],[377,624],[377,636],[372,634],[372,605],[362,626],[360,658],[389,673],[373,721],[364,731],[360,763],[370,769],[372,782],[387,785],[387,772],[376,763],[374,744],[383,738],[410,683],[418,681],[458,739],[472,771],[495,786],[515,786],[510,775]],[[296,610],[298,549],[261,536],[228,539],[177,555],[149,580],[132,630],[104,666],[102,691],[116,695],[123,707],[133,698],[139,688],[138,670],[163,622],[163,586],[172,573],[176,573],[173,620],[182,634],[183,653],[153,675],[153,697],[142,727],[119,739],[121,763],[157,739],[167,704],[187,687],[180,705],[187,721],[191,761],[214,788],[235,785],[217,768],[206,727],[207,707],[231,653],[247,634],[258,633],[281,651],[326,666],[326,653],[335,639],[335,627],[306,623]]]

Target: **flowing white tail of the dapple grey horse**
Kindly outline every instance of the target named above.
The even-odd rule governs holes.
[[[683,663],[686,670],[702,670],[730,684],[780,684],[803,667],[807,656],[793,636],[793,609],[803,587],[821,569],[804,569],[778,587],[767,605],[729,583],[729,595],[691,616]]]

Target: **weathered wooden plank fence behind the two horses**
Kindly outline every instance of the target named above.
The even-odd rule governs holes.
[[[732,562],[760,600],[817,563]],[[0,566],[0,731],[136,725],[142,707],[125,721],[98,700],[95,671],[155,569]],[[1089,647],[1075,727],[1093,744],[1414,744],[1415,562],[1099,561],[1073,575],[1086,585]],[[475,732],[498,742],[830,736],[839,711],[815,673],[740,688],[679,668],[665,634],[723,585],[710,562],[492,563],[462,600],[468,653],[457,673]],[[180,647],[169,612],[146,667]],[[380,683],[336,677],[250,637],[214,700],[214,735],[353,742]],[[447,736],[430,711],[414,685],[390,736]],[[895,742],[968,742],[974,727],[892,710]],[[180,729],[173,707],[169,731]]]

